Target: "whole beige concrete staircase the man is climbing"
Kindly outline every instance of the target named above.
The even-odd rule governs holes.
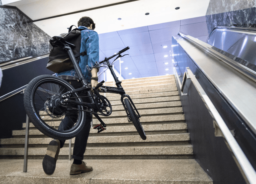
[[[106,82],[105,85],[115,86],[113,82]],[[122,180],[122,176],[120,179],[120,175],[116,175],[116,178],[113,176],[112,179],[118,182],[113,183],[136,183],[131,182],[131,180],[136,180],[138,183],[173,183],[174,181],[177,184],[212,183],[210,177],[193,159],[193,148],[189,144],[190,136],[184,121],[174,75],[126,79],[122,81],[122,87],[130,95],[140,115],[142,115],[140,122],[146,132],[147,139],[142,140],[133,124],[128,123],[124,107],[120,101],[120,95],[107,93],[106,97],[112,104],[113,110],[109,117],[102,117],[107,125],[107,130],[98,134],[96,130],[91,129],[84,160],[89,163],[90,160],[103,159],[101,163],[105,163],[108,159],[111,159],[111,163],[126,163],[128,165],[132,163],[133,166],[136,165],[136,176],[138,175],[138,178],[132,175],[135,179],[128,177]],[[93,118],[93,124],[99,124],[96,118]],[[24,123],[23,128],[25,127],[26,124]],[[4,162],[6,159],[23,158],[25,130],[13,131],[12,135],[12,138],[0,140],[2,146],[0,148],[0,158],[5,158],[0,162]],[[28,158],[42,159],[47,145],[52,139],[40,133],[32,123],[30,123],[29,135]],[[74,138],[72,144],[74,144]],[[58,163],[68,162],[67,159],[68,141],[66,141],[64,148],[60,150],[57,165]],[[37,161],[34,160],[33,162]],[[38,160],[40,166],[41,162],[42,160]],[[148,169],[143,171],[145,167],[148,167],[144,165],[145,163],[151,163],[151,166],[156,164],[154,168],[160,167],[158,169],[164,169],[164,171],[158,173],[159,177],[157,179],[155,174],[149,174],[147,178],[141,179],[140,176],[146,176],[147,173],[150,173]],[[116,167],[120,167],[120,165],[117,164]],[[129,166],[127,167],[126,170],[129,169]],[[120,169],[112,168],[116,171],[109,168],[109,172],[120,172],[122,168],[123,166]],[[174,168],[176,169],[174,170]],[[132,170],[134,170],[134,167]],[[140,174],[140,172],[142,173]],[[0,176],[2,176],[1,173]],[[100,175],[100,180],[96,177],[94,182],[112,183],[112,180],[111,182],[108,180],[109,178],[104,179],[102,177]],[[89,183],[94,183],[91,179]]]

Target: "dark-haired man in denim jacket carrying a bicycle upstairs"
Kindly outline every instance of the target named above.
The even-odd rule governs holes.
[[[80,52],[86,50],[86,55],[80,56],[79,67],[86,81],[91,82],[92,87],[98,84],[98,68],[100,65],[99,61],[99,37],[97,32],[94,31],[95,24],[93,20],[89,17],[82,17],[78,21],[78,28],[81,30],[81,49]],[[75,89],[82,87],[82,83],[78,81],[78,75],[75,69],[64,71],[61,73],[56,73],[56,76],[65,79],[70,83]],[[82,96],[82,95],[81,95]],[[82,98],[84,102],[89,102],[88,98]],[[76,116],[76,115],[74,115]],[[60,123],[58,129],[65,130],[68,124],[72,123],[72,115],[65,116],[65,118]],[[74,117],[75,118],[75,117]],[[80,174],[83,172],[92,171],[91,166],[86,166],[83,162],[84,152],[86,149],[86,144],[90,132],[90,125],[92,121],[92,115],[86,113],[86,122],[83,129],[76,136],[73,156],[74,162],[70,168],[70,174]],[[58,159],[58,154],[60,148],[64,146],[65,140],[52,140],[47,148],[46,155],[43,160],[43,169],[46,174],[52,174],[55,170],[56,161]]]

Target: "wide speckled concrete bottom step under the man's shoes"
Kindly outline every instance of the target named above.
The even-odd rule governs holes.
[[[75,177],[69,174],[72,162],[59,159],[55,172],[46,175],[40,159],[28,160],[28,172],[22,172],[22,159],[1,160],[0,181],[3,184],[213,184],[194,159],[86,160],[93,171]]]

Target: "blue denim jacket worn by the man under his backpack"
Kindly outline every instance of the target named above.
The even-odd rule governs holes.
[[[84,26],[80,26],[79,29],[84,29],[81,31],[81,48],[80,52],[86,50],[86,55],[80,56],[80,61],[78,63],[86,81],[91,81],[91,70],[92,68],[100,67],[99,61],[99,36],[94,30],[90,30]],[[69,75],[78,77],[75,69],[63,71],[61,73],[56,73],[56,76]]]

